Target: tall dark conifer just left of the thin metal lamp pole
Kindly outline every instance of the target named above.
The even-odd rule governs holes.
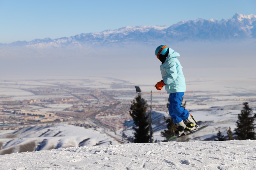
[[[130,115],[134,121],[135,130],[133,142],[134,143],[149,143],[150,141],[150,120],[147,115],[147,108],[141,103],[141,95],[139,94],[135,100],[132,101],[130,107]],[[147,103],[147,102],[146,102]]]

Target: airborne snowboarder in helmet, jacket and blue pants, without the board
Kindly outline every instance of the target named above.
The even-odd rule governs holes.
[[[157,90],[161,90],[165,86],[165,90],[170,94],[169,114],[178,126],[174,136],[178,137],[197,130],[199,128],[198,123],[188,113],[188,110],[181,107],[181,100],[186,91],[186,83],[182,72],[183,67],[177,59],[180,54],[168,45],[161,45],[156,48],[155,55],[162,62],[160,65],[162,80],[157,82],[155,87]]]

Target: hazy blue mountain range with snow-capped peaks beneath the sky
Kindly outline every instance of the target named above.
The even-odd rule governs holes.
[[[196,19],[180,21],[172,26],[126,26],[100,33],[81,33],[71,37],[58,39],[35,39],[33,41],[16,41],[2,46],[27,47],[65,47],[111,44],[153,44],[156,41],[221,41],[230,39],[256,38],[256,15],[236,13],[230,19],[220,21]]]

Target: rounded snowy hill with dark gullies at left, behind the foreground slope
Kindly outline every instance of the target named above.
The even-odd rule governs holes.
[[[98,128],[68,124],[32,125],[19,130],[0,130],[0,154],[40,151],[54,148],[118,144]]]

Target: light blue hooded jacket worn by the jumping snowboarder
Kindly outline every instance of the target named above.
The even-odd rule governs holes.
[[[169,54],[163,64],[160,65],[165,90],[168,94],[175,92],[185,92],[186,82],[182,72],[182,66],[176,57],[180,54],[169,48]]]

